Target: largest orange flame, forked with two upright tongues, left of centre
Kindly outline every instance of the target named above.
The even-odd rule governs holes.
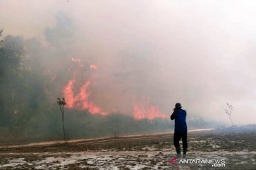
[[[75,80],[68,81],[68,84],[63,89],[63,96],[66,98],[68,108],[79,108],[82,110],[88,110],[91,114],[107,115],[107,112],[102,111],[101,108],[89,101],[90,93],[87,91],[91,82],[87,81],[81,88],[80,93],[74,97],[73,86]]]

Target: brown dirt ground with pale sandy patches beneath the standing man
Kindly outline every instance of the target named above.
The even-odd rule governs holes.
[[[186,157],[176,157],[172,141],[173,134],[159,134],[1,147],[0,169],[256,170],[255,131],[188,132]]]

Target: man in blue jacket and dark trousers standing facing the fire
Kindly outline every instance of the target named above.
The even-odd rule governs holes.
[[[186,156],[188,142],[187,142],[187,132],[188,128],[186,125],[186,111],[181,109],[181,103],[176,103],[174,108],[174,113],[171,114],[171,120],[175,119],[174,128],[174,147],[178,155],[181,155],[181,147],[179,141],[182,138],[183,156]]]

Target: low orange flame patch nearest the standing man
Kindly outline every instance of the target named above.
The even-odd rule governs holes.
[[[154,120],[155,118],[168,118],[168,115],[159,112],[159,108],[157,106],[149,106],[149,101],[134,104],[133,110],[133,116],[135,120]]]

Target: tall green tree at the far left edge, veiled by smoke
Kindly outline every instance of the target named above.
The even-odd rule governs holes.
[[[0,31],[2,35],[2,30]],[[18,113],[22,105],[23,66],[21,60],[25,54],[23,39],[7,35],[0,44],[0,109],[1,122],[7,124]]]

